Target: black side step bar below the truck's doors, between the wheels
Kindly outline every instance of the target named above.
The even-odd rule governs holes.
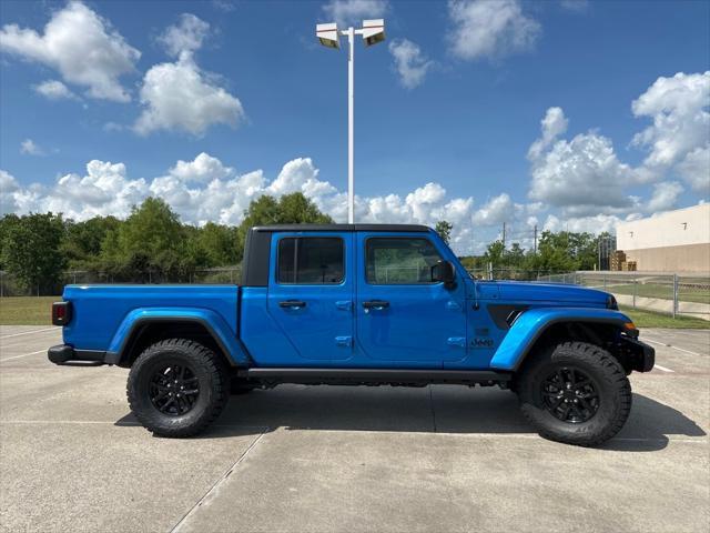
[[[239,378],[276,383],[303,384],[504,384],[509,372],[490,370],[400,370],[400,369],[242,369]]]

